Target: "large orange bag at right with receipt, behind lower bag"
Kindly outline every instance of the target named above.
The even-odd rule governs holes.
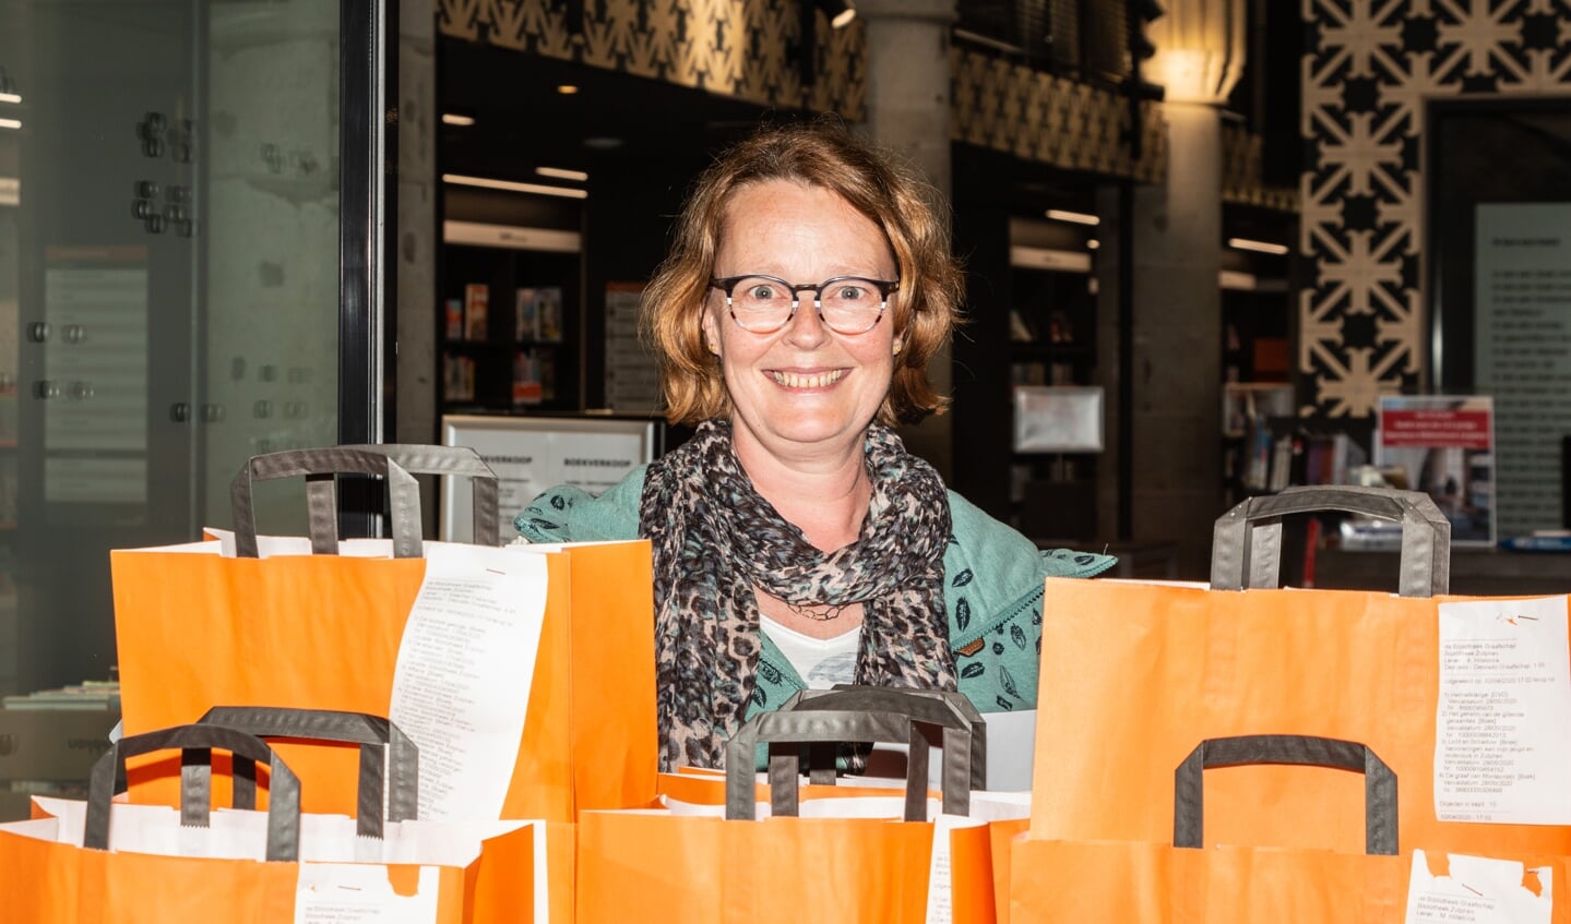
[[[1404,524],[1403,595],[1222,590],[1266,579],[1274,585],[1271,530],[1279,532],[1280,515],[1327,505]],[[1251,535],[1246,521],[1265,532]],[[1535,817],[1511,816],[1488,805],[1521,783],[1492,786],[1491,767],[1525,753],[1538,753],[1558,780],[1543,791],[1546,811],[1571,792],[1566,767],[1554,769],[1552,745],[1571,722],[1535,726],[1532,715],[1513,717],[1511,703],[1536,693],[1492,686],[1566,675],[1566,598],[1426,596],[1444,590],[1447,547],[1447,524],[1422,494],[1288,491],[1219,521],[1210,588],[1048,579],[1031,836],[1163,842],[1174,767],[1197,739],[1304,734],[1365,742],[1390,764],[1400,780],[1403,850],[1571,853],[1563,817],[1536,809]],[[1510,617],[1518,610],[1535,615]],[[1492,642],[1469,638],[1474,631]],[[1529,638],[1522,651],[1541,664],[1527,673],[1491,678],[1474,659],[1480,645],[1514,651]],[[1444,700],[1442,671],[1452,684]],[[1486,687],[1507,698],[1480,698]],[[1563,684],[1557,689],[1563,697]],[[1437,755],[1452,764],[1441,767]],[[1307,786],[1304,773],[1310,770],[1218,770],[1207,819],[1216,842],[1356,852],[1359,780]],[[1475,800],[1478,814],[1461,809]]]

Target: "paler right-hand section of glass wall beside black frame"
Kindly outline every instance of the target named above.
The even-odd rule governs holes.
[[[258,453],[338,442],[338,5],[207,5],[201,526]],[[297,500],[297,497],[302,497]],[[303,486],[262,485],[258,527],[303,530]]]

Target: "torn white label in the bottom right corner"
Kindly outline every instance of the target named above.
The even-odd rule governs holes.
[[[1551,868],[1452,853],[1447,875],[1430,872],[1423,850],[1412,852],[1408,924],[1549,924]],[[1524,875],[1525,872],[1525,875]]]

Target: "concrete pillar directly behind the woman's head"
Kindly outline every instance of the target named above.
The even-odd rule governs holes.
[[[949,28],[955,0],[853,0],[867,30],[867,132],[927,174],[949,207]],[[950,353],[928,367],[949,394]],[[950,417],[928,417],[900,431],[906,449],[947,480],[954,469]]]

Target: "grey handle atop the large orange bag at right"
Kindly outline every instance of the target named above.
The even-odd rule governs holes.
[[[1216,519],[1211,588],[1279,587],[1282,518],[1342,510],[1401,524],[1401,596],[1436,596],[1452,585],[1452,522],[1422,491],[1309,485],[1251,497]]]

